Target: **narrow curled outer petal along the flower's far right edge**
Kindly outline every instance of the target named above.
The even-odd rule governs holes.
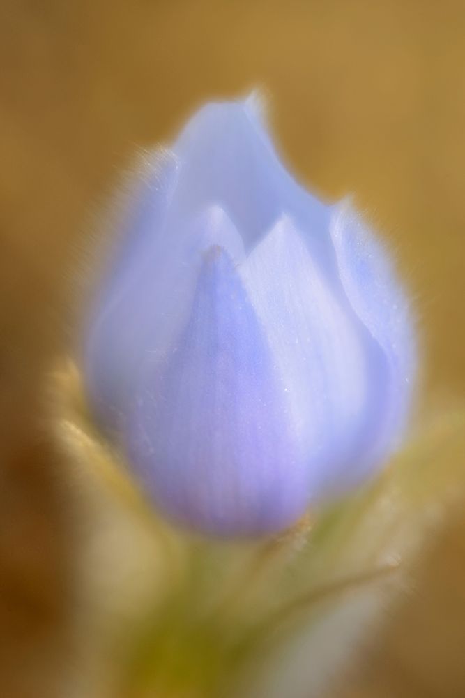
[[[416,373],[409,303],[388,254],[347,203],[335,212],[330,230],[347,298],[388,362],[386,415],[377,426],[378,448],[387,454],[404,429]]]

